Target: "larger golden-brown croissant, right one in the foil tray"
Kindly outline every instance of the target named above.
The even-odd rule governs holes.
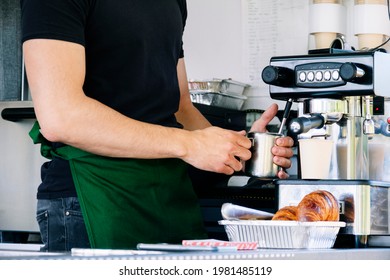
[[[330,192],[317,190],[299,202],[297,218],[301,222],[339,221],[339,204]]]

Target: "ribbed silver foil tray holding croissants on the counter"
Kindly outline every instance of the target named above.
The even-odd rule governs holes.
[[[259,248],[329,249],[345,222],[221,220],[229,241],[257,242]]]

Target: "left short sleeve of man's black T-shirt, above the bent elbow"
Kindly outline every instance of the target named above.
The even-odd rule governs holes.
[[[22,42],[58,39],[85,45],[89,0],[21,0]]]

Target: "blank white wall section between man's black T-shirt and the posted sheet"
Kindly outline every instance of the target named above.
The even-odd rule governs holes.
[[[190,79],[242,80],[240,0],[187,0],[184,37]]]

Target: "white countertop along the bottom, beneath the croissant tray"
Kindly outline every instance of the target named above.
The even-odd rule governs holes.
[[[44,253],[38,246],[1,244],[0,260],[390,260],[390,248],[257,249],[247,251],[161,252],[141,250],[85,250],[85,253]]]

